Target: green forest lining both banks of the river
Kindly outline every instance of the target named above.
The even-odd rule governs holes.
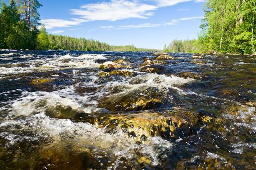
[[[40,26],[38,0],[1,0],[0,48],[63,49],[91,51],[159,51],[133,45],[111,46],[92,39],[48,34]],[[256,49],[255,0],[206,0],[205,18],[194,40],[173,40],[164,46],[166,52],[251,54]],[[39,27],[41,28],[39,30]]]

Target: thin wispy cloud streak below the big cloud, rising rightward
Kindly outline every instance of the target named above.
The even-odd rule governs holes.
[[[185,17],[181,19],[173,19],[170,22],[164,22],[160,24],[138,24],[138,25],[121,25],[121,26],[100,26],[99,28],[107,29],[107,30],[124,30],[124,29],[132,29],[132,28],[149,28],[149,27],[161,27],[161,26],[170,26],[170,25],[177,25],[180,21],[188,21],[188,20],[195,20],[195,19],[202,19],[204,16],[196,16],[196,17]]]

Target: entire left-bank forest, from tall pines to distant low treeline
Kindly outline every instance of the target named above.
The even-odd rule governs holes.
[[[110,46],[107,43],[85,38],[51,35],[42,25],[38,30],[38,0],[10,0],[9,5],[0,0],[1,49],[63,49],[83,51],[159,51],[136,48],[133,45]]]

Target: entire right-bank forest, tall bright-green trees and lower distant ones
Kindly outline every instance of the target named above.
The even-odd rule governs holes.
[[[173,40],[164,51],[251,54],[256,49],[256,0],[206,0],[196,40]]]

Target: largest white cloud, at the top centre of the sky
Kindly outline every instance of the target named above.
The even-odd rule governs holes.
[[[157,6],[139,3],[138,0],[110,0],[110,2],[83,5],[81,9],[72,9],[71,14],[91,21],[116,21],[128,18],[144,19],[153,15],[152,11],[156,9]]]

